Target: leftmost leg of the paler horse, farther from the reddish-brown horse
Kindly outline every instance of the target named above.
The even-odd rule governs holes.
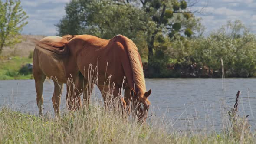
[[[36,104],[39,109],[39,115],[43,115],[43,82],[46,75],[43,73],[34,73],[35,86],[36,86]]]

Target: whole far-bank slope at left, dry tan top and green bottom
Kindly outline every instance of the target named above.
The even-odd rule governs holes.
[[[21,43],[13,47],[4,47],[0,55],[0,80],[33,79],[26,71],[19,72],[23,65],[32,63],[33,50],[36,43],[43,39],[42,35],[22,35]],[[11,59],[9,59],[11,58]]]

